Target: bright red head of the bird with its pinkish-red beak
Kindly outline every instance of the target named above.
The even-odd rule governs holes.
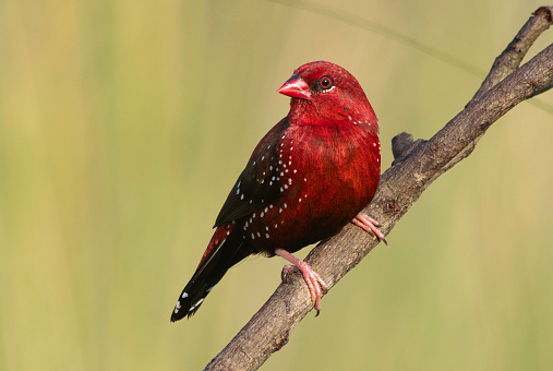
[[[373,124],[376,116],[359,82],[330,62],[301,65],[278,93],[291,97],[292,124]]]

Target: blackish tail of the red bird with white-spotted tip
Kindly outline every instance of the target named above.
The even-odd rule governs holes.
[[[229,224],[215,230],[196,272],[179,296],[171,313],[171,322],[194,314],[225,273],[254,253],[253,248],[241,236],[232,234],[233,227],[233,224]]]

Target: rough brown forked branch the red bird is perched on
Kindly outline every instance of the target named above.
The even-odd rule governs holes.
[[[467,104],[429,141],[407,133],[393,140],[395,161],[381,177],[378,191],[364,210],[387,235],[421,193],[442,173],[467,157],[478,140],[500,117],[520,101],[552,86],[553,44],[520,67],[538,36],[552,23],[553,7],[538,9]],[[306,261],[332,288],[376,246],[360,228],[346,226],[320,244]],[[215,357],[206,370],[256,370],[288,343],[289,334],[313,309],[300,274],[282,277],[273,296]]]

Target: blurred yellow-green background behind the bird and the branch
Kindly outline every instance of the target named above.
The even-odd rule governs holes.
[[[169,323],[293,69],[358,77],[386,168],[392,137],[442,128],[544,4],[316,3],[482,72],[271,1],[1,2],[1,370],[202,369],[279,283],[280,259],[249,259]],[[552,121],[524,103],[494,124],[263,369],[552,369]]]

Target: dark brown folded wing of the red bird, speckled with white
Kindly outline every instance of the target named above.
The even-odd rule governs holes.
[[[280,120],[257,144],[223,205],[215,227],[250,215],[278,199],[278,146],[287,129],[288,117]]]

